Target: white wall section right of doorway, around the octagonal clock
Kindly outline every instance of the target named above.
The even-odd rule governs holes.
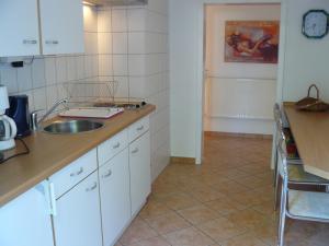
[[[316,83],[320,96],[329,102],[329,35],[319,40],[307,39],[300,31],[302,19],[310,9],[325,9],[328,0],[291,0],[287,4],[287,33],[283,101],[296,102],[306,96],[307,89]]]

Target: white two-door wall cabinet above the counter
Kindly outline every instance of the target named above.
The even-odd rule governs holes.
[[[1,0],[0,57],[84,50],[81,0]]]

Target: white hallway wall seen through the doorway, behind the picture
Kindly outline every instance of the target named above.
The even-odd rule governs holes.
[[[225,62],[226,21],[280,21],[280,4],[207,5],[204,130],[272,134],[277,66]]]

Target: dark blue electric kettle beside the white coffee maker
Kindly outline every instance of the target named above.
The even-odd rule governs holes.
[[[9,109],[5,115],[11,117],[18,127],[18,137],[31,134],[27,95],[9,96]]]

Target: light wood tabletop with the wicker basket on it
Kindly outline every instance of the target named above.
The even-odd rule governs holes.
[[[329,179],[329,112],[300,112],[292,103],[284,103],[283,107],[304,169]]]

